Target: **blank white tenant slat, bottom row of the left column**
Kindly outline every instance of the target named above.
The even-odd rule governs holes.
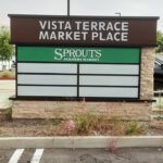
[[[76,97],[76,87],[18,86],[17,96]]]

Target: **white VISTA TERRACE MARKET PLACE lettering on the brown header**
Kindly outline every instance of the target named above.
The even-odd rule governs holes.
[[[88,34],[91,41],[128,40],[128,22],[39,21],[39,40],[86,41]]]

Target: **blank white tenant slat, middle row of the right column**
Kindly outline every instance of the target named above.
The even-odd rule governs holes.
[[[79,85],[138,86],[138,76],[80,76]]]

